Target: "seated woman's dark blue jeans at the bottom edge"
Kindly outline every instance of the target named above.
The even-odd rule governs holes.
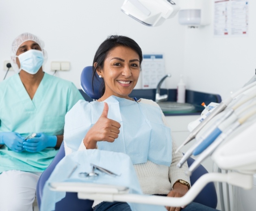
[[[93,211],[131,211],[131,209],[126,202],[101,202],[95,206]],[[191,202],[182,211],[217,211],[217,209]]]

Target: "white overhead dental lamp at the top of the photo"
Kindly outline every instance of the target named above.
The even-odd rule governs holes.
[[[125,0],[121,6],[121,11],[146,26],[160,26],[179,9],[172,0]]]

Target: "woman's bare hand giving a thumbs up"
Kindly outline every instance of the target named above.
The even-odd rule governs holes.
[[[86,149],[95,149],[98,141],[114,142],[121,125],[108,118],[108,104],[104,102],[103,112],[98,121],[89,129],[84,138]]]

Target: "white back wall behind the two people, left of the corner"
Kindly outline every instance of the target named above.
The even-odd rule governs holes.
[[[179,72],[183,71],[184,31],[178,17],[161,27],[148,27],[128,17],[120,8],[123,0],[2,0],[0,1],[0,81],[4,78],[4,60],[9,60],[11,43],[17,35],[31,32],[45,42],[50,71],[51,61],[70,61],[71,70],[57,76],[71,80],[80,87],[80,73],[92,65],[98,46],[108,35],[131,37],[143,53],[163,53],[166,69],[176,87]],[[8,77],[13,73],[8,73]],[[177,77],[176,77],[177,75]],[[141,81],[136,88],[141,88]]]

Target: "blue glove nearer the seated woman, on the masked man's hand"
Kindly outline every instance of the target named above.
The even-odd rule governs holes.
[[[37,133],[35,138],[23,142],[23,148],[31,153],[40,152],[46,147],[54,147],[57,143],[57,136],[47,136],[44,133]]]

